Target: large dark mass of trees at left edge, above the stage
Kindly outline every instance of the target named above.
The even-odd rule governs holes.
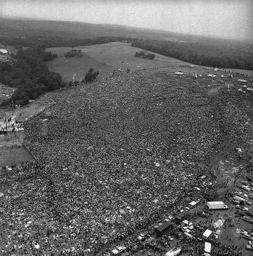
[[[50,71],[44,63],[52,58],[51,52],[36,46],[26,50],[20,48],[13,64],[0,63],[0,83],[17,88],[3,104],[23,106],[45,92],[64,87],[61,76]]]

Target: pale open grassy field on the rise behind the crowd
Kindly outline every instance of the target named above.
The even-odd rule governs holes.
[[[145,52],[145,50],[132,47],[130,43],[111,42],[83,47],[80,46],[76,47],[76,49],[82,50],[84,54],[82,58],[64,58],[64,53],[71,50],[71,47],[47,48],[47,51],[54,52],[59,56],[52,61],[48,61],[47,66],[53,71],[61,74],[64,80],[69,81],[74,74],[76,74],[76,79],[81,79],[90,67],[99,70],[100,76],[105,76],[113,69],[119,68],[129,68],[130,71],[134,71],[157,67],[168,68],[170,71],[178,71],[181,69],[181,65],[191,65],[191,63],[163,56],[158,53],[154,53],[155,58],[153,60],[136,58],[134,57],[136,51]],[[194,66],[197,69],[202,68],[202,66]],[[226,70],[238,71],[241,74],[253,76],[253,71],[251,70]],[[198,72],[198,70],[195,69],[191,69],[191,71]]]

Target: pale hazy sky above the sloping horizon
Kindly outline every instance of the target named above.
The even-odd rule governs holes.
[[[253,40],[253,0],[0,0],[1,14]]]

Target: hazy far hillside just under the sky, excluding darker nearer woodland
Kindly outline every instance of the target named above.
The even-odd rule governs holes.
[[[90,24],[70,21],[43,21],[0,18],[1,38],[19,38],[45,41],[49,38],[78,40],[94,39],[103,36],[120,36],[122,38],[143,38],[162,41],[179,41],[189,43],[207,43],[221,45],[238,45],[242,42],[227,39],[209,38],[206,36],[180,34],[162,30],[141,29],[132,26],[115,24]],[[247,47],[248,43],[243,43]]]

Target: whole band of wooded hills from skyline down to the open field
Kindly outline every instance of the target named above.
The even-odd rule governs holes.
[[[78,47],[121,41],[196,65],[253,70],[252,43],[112,24],[6,18],[0,19],[0,24],[0,44],[16,48]]]

